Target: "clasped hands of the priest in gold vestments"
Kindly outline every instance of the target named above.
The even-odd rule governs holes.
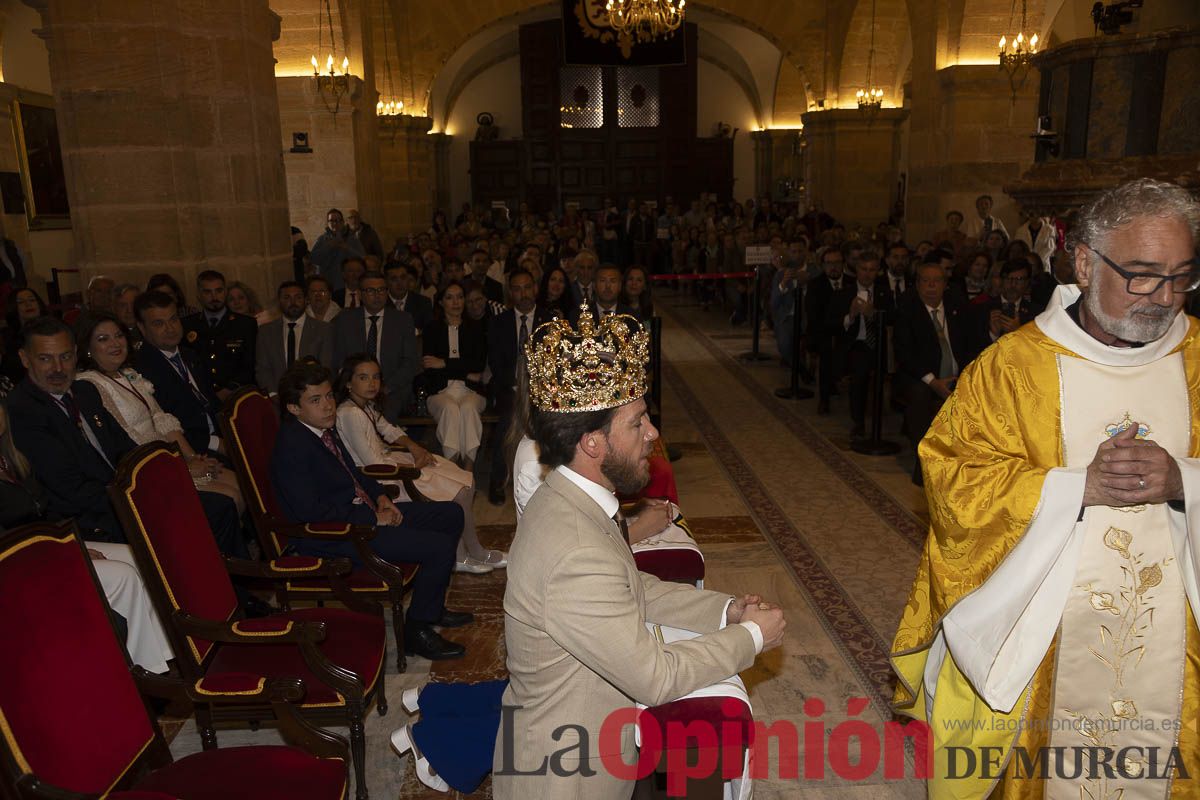
[[[1138,423],[1103,443],[1087,467],[1084,505],[1154,505],[1183,499],[1175,458],[1156,441],[1138,439]]]

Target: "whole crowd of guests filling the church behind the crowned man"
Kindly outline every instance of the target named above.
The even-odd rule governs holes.
[[[196,279],[198,306],[166,273],[144,288],[92,278],[82,307],[61,315],[35,289],[13,285],[0,338],[0,528],[73,519],[125,620],[133,661],[164,670],[170,646],[108,488],[138,445],[172,443],[218,549],[246,557],[251,525],[220,415],[232,396],[257,386],[283,420],[270,464],[283,515],[374,528],[377,557],[420,566],[406,650],[461,656],[462,645],[439,632],[472,621],[445,607],[451,573],[508,563],[475,531],[480,450],[490,451],[494,504],[523,464],[529,474],[514,476],[524,489],[520,506],[541,480],[517,391],[524,345],[540,325],[575,323],[584,306],[598,320],[649,320],[653,277],[743,272],[745,248],[766,245],[773,261],[757,282],[676,285],[706,307],[731,307],[734,324],[755,318],[773,327],[782,360],[798,360],[816,380],[820,414],[839,390],[848,393],[854,437],[865,435],[886,333],[892,405],[916,444],[961,369],[1073,279],[1052,221],[1032,218],[1008,241],[990,205],[979,198],[966,230],[964,215],[947,215],[946,230],[912,248],[896,228],[847,231],[816,206],[785,217],[767,199],[722,205],[703,196],[682,213],[668,199],[658,216],[646,203],[618,212],[607,200],[598,213],[560,217],[524,204],[512,219],[466,207],[454,227],[439,213],[428,231],[386,252],[358,212],[331,209],[311,252],[296,240],[295,279],[278,284],[271,307],[212,270]],[[886,327],[876,325],[880,312]],[[436,445],[422,439],[426,426]],[[518,443],[524,457],[510,470]],[[373,464],[420,470],[420,497],[371,477],[362,468]],[[676,512],[648,505],[630,521],[631,540],[660,534]],[[292,547],[361,561],[346,542],[299,539]],[[247,615],[271,610],[250,584],[235,585]]]

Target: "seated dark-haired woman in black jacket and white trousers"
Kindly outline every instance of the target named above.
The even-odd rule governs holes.
[[[484,432],[480,415],[486,402],[474,386],[479,386],[487,365],[487,336],[482,325],[463,313],[466,300],[461,283],[451,282],[442,289],[438,318],[421,333],[421,366],[442,452],[472,471]]]

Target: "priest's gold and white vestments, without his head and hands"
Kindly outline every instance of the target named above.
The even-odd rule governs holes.
[[[976,360],[920,444],[931,530],[892,662],[898,712],[931,724],[929,795],[937,800],[1200,798],[1200,632],[1192,608],[1200,462],[1181,461],[1193,530],[1165,505],[1093,507],[1075,522],[1086,467],[1121,426],[1154,417],[1141,438],[1183,459],[1200,457],[1200,323],[1176,320],[1174,343],[1151,365],[1094,363],[1043,330],[1067,331],[1064,308],[1075,297],[1078,289],[1060,290],[1036,323]],[[1058,534],[1044,536],[1046,525]],[[1054,566],[1031,579],[1031,558]],[[1009,587],[1001,606],[1015,612],[992,614],[980,603]],[[1043,608],[1056,609],[1052,618]],[[973,624],[962,628],[959,618]],[[1152,646],[1136,649],[1144,644]],[[1145,726],[1130,722],[1141,711],[1177,729],[1133,732]],[[1102,718],[1109,733],[1094,739]],[[1069,721],[1075,729],[1063,730]],[[1126,728],[1112,732],[1122,721]],[[1190,780],[1028,778],[1013,750],[1036,758],[1040,748],[1126,741],[1177,747]],[[1064,766],[1069,775],[1073,764]]]

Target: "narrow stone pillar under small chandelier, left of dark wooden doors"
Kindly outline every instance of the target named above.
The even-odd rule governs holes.
[[[407,237],[428,230],[437,190],[434,137],[428,116],[401,114],[379,131],[383,228]]]

